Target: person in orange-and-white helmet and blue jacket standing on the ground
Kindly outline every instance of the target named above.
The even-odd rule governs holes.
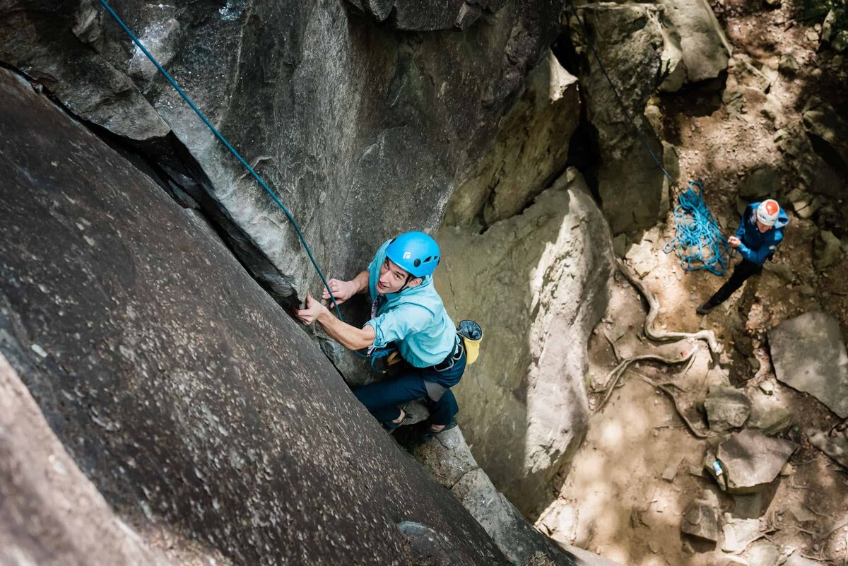
[[[728,238],[730,247],[736,248],[742,261],[734,268],[727,283],[716,291],[710,299],[700,305],[695,312],[707,314],[722,302],[728,300],[734,291],[751,275],[762,272],[762,265],[771,259],[774,250],[784,239],[784,228],[789,224],[789,216],[777,201],[769,198],[762,203],[751,203],[745,207],[739,219],[739,229],[735,236]]]

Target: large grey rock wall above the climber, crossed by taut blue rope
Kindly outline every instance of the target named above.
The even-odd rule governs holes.
[[[561,5],[128,0],[115,8],[291,208],[327,275],[350,277],[387,237],[436,229],[555,39]],[[454,27],[467,29],[393,29]],[[319,280],[285,215],[99,3],[5,3],[0,60],[163,166],[177,164],[162,147],[186,148],[182,172],[207,196],[204,208],[223,208],[238,247],[251,248],[254,276],[282,301],[315,292]]]

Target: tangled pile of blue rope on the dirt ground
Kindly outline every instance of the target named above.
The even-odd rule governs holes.
[[[694,186],[698,186],[697,192]],[[724,273],[729,261],[728,239],[722,236],[715,217],[704,203],[703,187],[696,180],[678,197],[674,228],[677,235],[667,241],[663,252],[677,253],[680,266],[687,271],[706,269],[715,275]]]

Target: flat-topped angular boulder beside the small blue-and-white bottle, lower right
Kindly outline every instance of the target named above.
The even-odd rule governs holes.
[[[756,430],[743,430],[723,441],[716,458],[722,463],[727,491],[740,495],[762,491],[778,477],[796,447],[794,442]]]

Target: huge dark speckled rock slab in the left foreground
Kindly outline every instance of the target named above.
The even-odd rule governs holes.
[[[0,77],[0,351],[120,516],[259,565],[420,563],[410,520],[505,566],[202,220]]]

